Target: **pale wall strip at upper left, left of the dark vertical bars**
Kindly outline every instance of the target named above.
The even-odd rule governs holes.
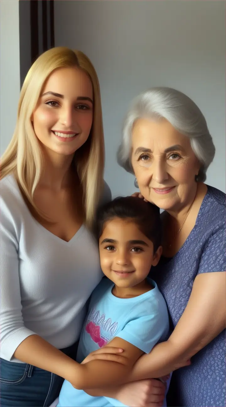
[[[19,1],[0,2],[0,154],[12,138],[20,96]]]

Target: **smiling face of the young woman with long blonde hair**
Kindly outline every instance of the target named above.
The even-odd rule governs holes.
[[[71,155],[89,137],[93,120],[93,88],[79,68],[56,69],[47,79],[33,112],[39,141],[58,154]]]

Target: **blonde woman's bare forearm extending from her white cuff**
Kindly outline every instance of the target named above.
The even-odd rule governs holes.
[[[76,366],[80,366],[38,335],[30,335],[24,339],[15,350],[14,356],[24,363],[48,370],[70,382],[75,378]]]

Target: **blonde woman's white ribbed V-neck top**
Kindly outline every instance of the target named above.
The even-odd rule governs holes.
[[[111,192],[105,184],[102,201]],[[0,357],[34,333],[58,349],[79,339],[100,282],[98,245],[84,225],[65,242],[30,214],[12,175],[0,182]]]

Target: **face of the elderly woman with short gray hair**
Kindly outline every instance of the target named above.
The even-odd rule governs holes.
[[[189,138],[167,120],[137,120],[131,162],[142,195],[159,208],[179,210],[193,199],[200,164]]]

